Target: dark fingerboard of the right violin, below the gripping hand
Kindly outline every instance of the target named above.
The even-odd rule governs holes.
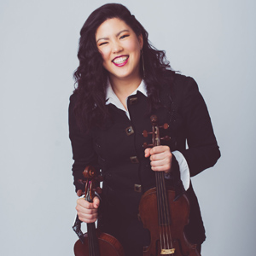
[[[166,193],[165,172],[155,172],[159,225],[171,224],[169,202]]]

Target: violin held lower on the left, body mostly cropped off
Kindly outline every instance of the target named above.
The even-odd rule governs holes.
[[[99,188],[96,188],[96,183],[101,181],[101,178],[97,176],[93,166],[87,166],[83,175],[85,178],[85,182],[83,182],[85,183],[84,199],[92,202],[95,191],[99,191],[97,190]],[[81,223],[78,216],[76,222]],[[124,249],[119,241],[115,237],[96,229],[95,223],[87,224],[87,233],[85,234],[80,229],[76,229],[77,227],[74,225],[73,230],[79,236],[79,240],[74,245],[75,256],[125,256]]]

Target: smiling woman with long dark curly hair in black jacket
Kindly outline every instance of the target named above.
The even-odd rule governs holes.
[[[185,233],[200,250],[205,230],[189,177],[213,166],[220,153],[195,80],[171,70],[165,52],[148,43],[148,33],[121,4],[96,9],[80,34],[78,86],[69,107],[74,185],[81,195],[78,180],[91,165],[102,172],[103,187],[102,201],[77,201],[79,219],[99,218],[98,226],[122,243],[126,256],[143,255],[150,236],[137,218],[139,202],[155,186],[154,172],[166,172],[166,183],[186,190]],[[153,113],[160,125],[169,124],[172,139],[144,150],[150,138],[142,133],[151,130]]]

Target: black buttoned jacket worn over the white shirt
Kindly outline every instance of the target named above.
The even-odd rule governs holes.
[[[149,160],[144,158],[143,149],[143,143],[151,143],[150,137],[143,137],[143,130],[152,129],[151,114],[158,116],[159,125],[169,124],[170,128],[162,132],[171,140],[163,144],[183,154],[191,177],[213,166],[220,156],[207,106],[195,80],[171,71],[166,72],[166,76],[170,77],[170,82],[160,87],[162,107],[148,113],[148,98],[137,92],[127,101],[131,120],[124,111],[109,104],[111,119],[101,129],[95,128],[88,133],[79,131],[73,114],[76,96],[70,97],[69,128],[76,189],[83,189],[77,180],[83,177],[85,166],[93,165],[102,170],[100,224],[120,241],[127,239],[123,234],[130,230],[134,234],[130,244],[139,240],[144,245],[148,242],[147,232],[141,231],[142,224],[137,221],[137,212],[143,192],[155,186],[154,172]],[[186,234],[190,241],[200,244],[205,240],[205,230],[191,183],[186,194],[190,203]]]

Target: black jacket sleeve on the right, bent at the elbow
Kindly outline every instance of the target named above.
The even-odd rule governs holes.
[[[212,122],[195,80],[185,78],[183,117],[188,148],[181,151],[189,166],[190,176],[214,166],[220,157]]]

